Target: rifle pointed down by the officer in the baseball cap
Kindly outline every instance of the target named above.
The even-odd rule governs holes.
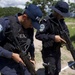
[[[26,44],[25,44],[25,51],[22,50],[17,38],[13,35],[15,43],[17,44],[16,50],[19,51],[19,55],[21,57],[21,59],[23,60],[23,62],[25,63],[28,71],[31,73],[31,75],[37,75],[35,68],[33,66],[33,64],[31,63],[29,56],[27,54],[27,50],[30,47],[31,44],[31,40],[26,38]],[[16,46],[16,44],[14,44]]]

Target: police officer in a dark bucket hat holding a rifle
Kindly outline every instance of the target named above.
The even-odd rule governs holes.
[[[66,41],[60,36],[60,25],[69,35],[64,17],[70,16],[66,2],[58,1],[51,7],[54,12],[41,21],[40,30],[36,38],[42,41],[42,58],[45,66],[45,75],[59,75],[61,69],[61,42]]]

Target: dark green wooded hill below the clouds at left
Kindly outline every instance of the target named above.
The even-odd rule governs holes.
[[[22,12],[22,9],[17,7],[0,8],[0,17],[14,15],[18,12]]]

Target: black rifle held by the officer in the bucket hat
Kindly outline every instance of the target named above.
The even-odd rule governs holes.
[[[62,25],[60,24],[60,21],[59,21],[59,27],[61,29],[60,35],[66,41],[66,43],[65,43],[66,44],[66,48],[67,48],[67,50],[70,51],[70,53],[71,53],[71,55],[72,55],[72,57],[73,57],[73,59],[75,61],[75,49],[74,49],[74,47],[72,45],[72,42],[70,40],[70,37],[65,32],[65,30],[63,30]]]

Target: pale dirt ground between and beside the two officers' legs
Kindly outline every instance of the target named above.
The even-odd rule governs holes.
[[[42,58],[41,58],[41,41],[35,39],[34,37],[34,44],[35,44],[35,59],[36,59],[36,71],[38,75],[44,75],[44,67],[42,66]],[[73,61],[73,58],[69,51],[65,48],[61,48],[61,72],[60,75],[75,75],[75,70],[71,69],[68,64]],[[63,70],[66,68],[65,70]]]

